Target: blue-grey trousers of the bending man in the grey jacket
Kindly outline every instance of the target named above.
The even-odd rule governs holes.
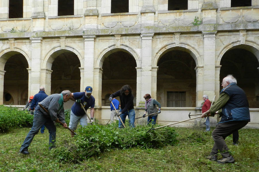
[[[33,126],[31,128],[31,131],[27,134],[20,151],[28,150],[28,147],[30,146],[34,136],[39,132],[39,129],[41,126],[45,124],[46,128],[49,130],[49,147],[52,145],[55,145],[56,142],[56,126],[54,125],[54,122],[51,120],[51,118],[44,116],[40,110],[37,110],[34,112],[34,118],[33,118]]]

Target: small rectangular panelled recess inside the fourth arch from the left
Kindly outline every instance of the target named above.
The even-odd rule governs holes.
[[[167,91],[167,107],[185,107],[185,91]]]

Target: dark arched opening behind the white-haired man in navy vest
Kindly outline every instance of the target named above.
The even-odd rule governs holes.
[[[222,56],[220,65],[220,81],[226,75],[232,74],[237,79],[237,85],[245,91],[249,107],[258,108],[259,63],[256,56],[249,50],[236,46]]]

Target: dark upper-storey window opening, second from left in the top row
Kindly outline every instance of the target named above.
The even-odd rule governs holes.
[[[74,0],[58,0],[58,16],[74,15]]]

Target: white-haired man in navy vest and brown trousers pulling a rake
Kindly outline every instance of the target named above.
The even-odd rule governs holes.
[[[223,89],[220,91],[219,99],[201,115],[201,118],[215,114],[221,117],[212,132],[214,146],[210,156],[206,158],[217,161],[217,154],[220,151],[222,159],[218,160],[218,163],[234,163],[235,159],[229,153],[225,138],[250,122],[249,105],[245,92],[237,86],[237,80],[232,75],[226,76],[221,84]]]

